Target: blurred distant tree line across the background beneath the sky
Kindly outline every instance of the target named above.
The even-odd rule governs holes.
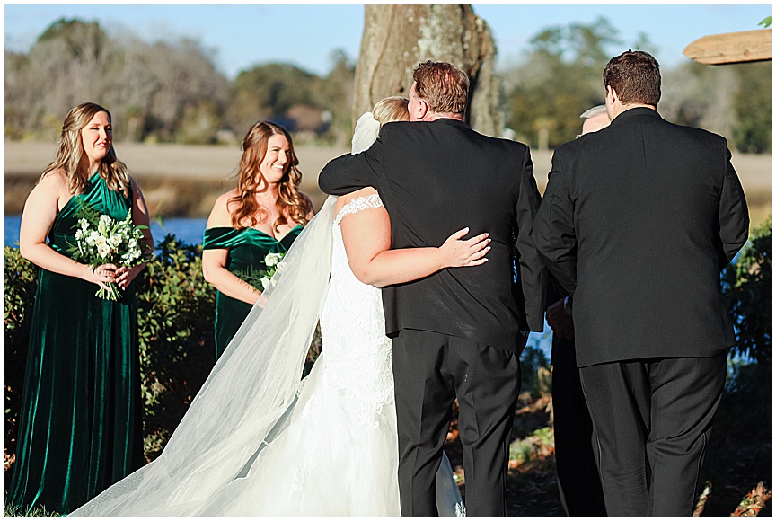
[[[604,18],[542,29],[517,65],[499,71],[507,135],[552,148],[579,132],[579,114],[604,102],[602,72],[624,49],[655,52],[645,35],[628,45]],[[662,70],[661,115],[727,137],[741,152],[771,152],[771,63]],[[67,110],[108,107],[116,137],[137,142],[233,142],[258,119],[311,139],[347,144],[355,65],[341,50],[319,76],[282,63],[230,81],[193,39],[111,36],[98,22],[62,19],[26,53],[5,50],[6,139],[53,139]],[[409,80],[409,78],[408,78]]]

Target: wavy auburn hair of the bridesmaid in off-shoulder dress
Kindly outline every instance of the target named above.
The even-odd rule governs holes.
[[[242,140],[242,157],[237,172],[237,195],[229,199],[230,204],[236,205],[236,208],[230,211],[232,226],[235,229],[242,230],[256,223],[262,223],[269,216],[267,209],[261,208],[256,201],[256,194],[269,188],[269,183],[261,174],[260,166],[264,156],[267,155],[269,138],[278,134],[286,137],[290,154],[287,170],[278,181],[278,200],[275,202],[278,219],[272,227],[277,232],[280,225],[287,224],[288,217],[300,225],[307,224],[307,214],[313,208],[309,199],[306,199],[298,190],[299,183],[302,182],[302,172],[296,168],[299,159],[294,151],[294,142],[285,128],[269,121],[259,121],[251,127]]]

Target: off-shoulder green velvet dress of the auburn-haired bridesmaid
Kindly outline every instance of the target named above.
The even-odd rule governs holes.
[[[228,250],[226,269],[229,271],[264,270],[267,269],[264,261],[267,254],[287,252],[301,232],[302,225],[298,225],[278,241],[255,228],[235,230],[227,226],[217,226],[205,230],[202,248]],[[251,307],[247,302],[216,291],[216,359],[234,338],[234,333],[240,329]]]

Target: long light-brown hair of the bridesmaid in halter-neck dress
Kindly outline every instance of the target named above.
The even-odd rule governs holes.
[[[112,124],[113,119],[110,116],[110,112],[97,103],[81,103],[67,112],[65,120],[62,122],[62,133],[59,135],[57,155],[54,161],[49,163],[46,170],[40,175],[40,179],[43,179],[48,172],[62,170],[67,176],[67,188],[70,193],[75,195],[84,193],[93,172],[88,172],[88,161],[84,161],[85,152],[84,143],[81,139],[81,130],[99,112],[108,114],[108,120]],[[98,171],[110,190],[121,192],[124,194],[124,197],[129,197],[131,181],[129,181],[127,165],[116,157],[112,140],[110,141],[110,149],[102,158]]]

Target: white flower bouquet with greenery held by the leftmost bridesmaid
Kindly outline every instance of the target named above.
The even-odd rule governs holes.
[[[79,200],[80,207],[75,216],[78,223],[75,227],[75,245],[71,245],[67,251],[73,254],[74,261],[82,261],[92,269],[102,264],[116,264],[117,266],[137,266],[144,261],[144,248],[148,245],[142,243],[143,230],[148,226],[132,224],[132,208],[129,208],[127,217],[123,221],[117,221],[111,216],[100,214],[84,201]],[[119,300],[121,290],[115,282],[106,284],[109,289],[101,287],[95,296],[107,300]]]

